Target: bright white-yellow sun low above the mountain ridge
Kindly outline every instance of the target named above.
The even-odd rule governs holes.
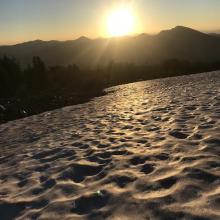
[[[129,7],[115,9],[107,16],[107,32],[111,37],[131,34],[134,26],[134,14]]]

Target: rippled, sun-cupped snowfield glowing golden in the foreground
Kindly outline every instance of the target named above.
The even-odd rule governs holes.
[[[220,219],[220,72],[108,91],[0,125],[0,219]]]

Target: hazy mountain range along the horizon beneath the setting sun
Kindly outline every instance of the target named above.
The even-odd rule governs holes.
[[[40,56],[47,65],[77,64],[81,68],[105,66],[110,62],[158,63],[167,59],[214,62],[220,60],[220,34],[207,34],[177,26],[157,35],[69,41],[30,41],[0,46],[0,56],[15,57],[21,65]]]

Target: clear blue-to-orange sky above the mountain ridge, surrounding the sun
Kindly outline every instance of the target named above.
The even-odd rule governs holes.
[[[126,4],[134,11],[132,34],[177,25],[220,31],[220,0],[0,0],[0,45],[108,37],[108,14]]]

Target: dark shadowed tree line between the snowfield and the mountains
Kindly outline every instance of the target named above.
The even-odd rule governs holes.
[[[142,66],[112,61],[105,67],[85,70],[75,64],[48,67],[38,56],[22,68],[15,58],[3,56],[0,57],[0,122],[87,101],[104,94],[104,88],[109,86],[219,69],[220,61],[170,59]]]

